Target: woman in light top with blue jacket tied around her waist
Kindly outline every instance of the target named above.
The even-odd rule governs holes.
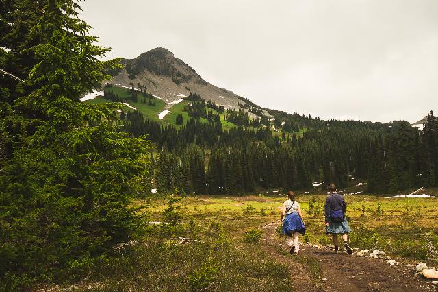
[[[286,234],[286,242],[290,247],[289,252],[298,254],[300,250],[298,236],[305,234],[306,227],[303,222],[300,204],[296,202],[294,192],[287,192],[287,197],[289,199],[283,203],[283,212],[281,213],[281,221],[283,221],[283,231],[281,233]],[[283,217],[285,217],[284,220]]]

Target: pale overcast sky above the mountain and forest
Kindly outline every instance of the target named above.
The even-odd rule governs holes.
[[[172,51],[259,106],[389,122],[438,112],[437,0],[88,0],[107,58]]]

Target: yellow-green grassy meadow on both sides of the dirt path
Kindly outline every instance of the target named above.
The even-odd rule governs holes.
[[[297,195],[307,225],[300,241],[330,243],[324,232],[325,197]],[[262,239],[262,226],[279,219],[284,200],[280,192],[138,199],[134,206],[144,216],[142,238],[115,251],[122,256],[75,267],[72,282],[61,288],[75,283],[81,291],[293,291],[294,273],[281,260],[290,255],[279,246],[271,254]],[[438,245],[438,199],[350,195],[346,202],[352,247],[413,261],[426,258],[426,234]],[[277,239],[282,241],[280,235]],[[317,259],[292,260],[305,267],[311,281],[320,281]]]

